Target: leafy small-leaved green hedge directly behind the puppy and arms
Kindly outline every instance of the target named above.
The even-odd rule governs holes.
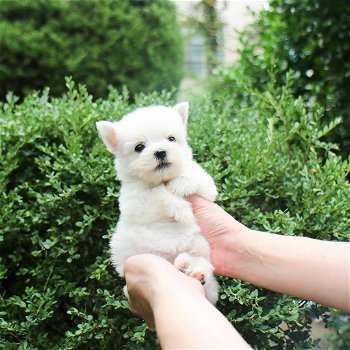
[[[0,344],[155,349],[110,265],[119,183],[95,121],[173,97],[142,95],[131,105],[112,91],[94,101],[67,85],[62,98],[45,91],[18,103],[8,94],[1,104]],[[223,95],[191,108],[190,143],[215,178],[218,203],[255,229],[349,240],[349,161],[324,142],[336,123],[321,126],[321,111],[288,86],[251,94],[249,103]],[[325,308],[236,279],[220,284],[218,308],[256,349],[311,347],[311,319]]]

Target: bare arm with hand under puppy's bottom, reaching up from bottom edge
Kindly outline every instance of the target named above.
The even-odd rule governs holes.
[[[202,285],[152,254],[124,267],[131,311],[155,327],[162,349],[250,349],[204,296]]]

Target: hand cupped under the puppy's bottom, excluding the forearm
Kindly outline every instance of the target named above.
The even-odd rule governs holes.
[[[167,260],[152,254],[135,255],[124,266],[130,310],[155,327],[154,312],[162,299],[172,303],[174,293],[204,297],[199,281],[178,271]]]

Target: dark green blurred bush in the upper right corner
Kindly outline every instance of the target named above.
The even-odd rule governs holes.
[[[295,71],[295,95],[323,106],[329,121],[344,120],[332,139],[345,156],[350,153],[349,18],[348,0],[271,0],[240,34],[240,59],[233,68],[261,91],[270,71],[279,84],[286,72]]]

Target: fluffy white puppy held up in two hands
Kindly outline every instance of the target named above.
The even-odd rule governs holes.
[[[120,276],[127,258],[157,254],[185,274],[200,280],[215,304],[218,284],[210,248],[195,222],[185,196],[197,193],[213,201],[212,178],[192,159],[186,141],[188,103],[151,106],[127,114],[119,122],[96,126],[115,155],[121,181],[120,218],[110,247]]]

